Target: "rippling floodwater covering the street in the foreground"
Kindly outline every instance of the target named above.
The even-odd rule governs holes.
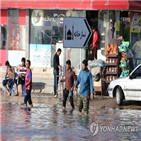
[[[91,126],[90,131],[93,122],[99,128]],[[106,129],[119,126],[132,126],[136,130]],[[31,110],[12,103],[0,104],[0,141],[139,141],[140,129],[140,110],[91,107],[89,116],[85,116],[70,111],[69,107],[62,112],[59,104],[36,104]]]

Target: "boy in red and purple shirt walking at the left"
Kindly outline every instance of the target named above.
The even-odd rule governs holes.
[[[30,65],[31,65],[31,62],[30,60],[27,60],[26,62],[26,78],[25,78],[25,88],[26,88],[26,95],[24,97],[24,104],[25,104],[25,107],[27,107],[27,102],[31,107],[33,107],[32,105],[32,100],[31,100],[31,90],[32,90],[32,72],[31,72],[31,69],[30,69]]]

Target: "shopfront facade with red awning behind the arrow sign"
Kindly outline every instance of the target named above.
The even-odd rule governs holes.
[[[135,57],[140,58],[140,47],[134,44],[141,39],[141,2],[96,1],[3,0],[0,4],[0,66],[4,66],[6,60],[17,66],[21,58],[26,57],[32,61],[32,67],[52,67],[53,55],[61,48],[60,64],[71,59],[73,67],[80,69],[80,61],[90,59],[92,39],[86,49],[63,48],[64,17],[85,17],[90,26],[96,26],[98,59],[105,59],[109,38],[119,36],[130,42]]]

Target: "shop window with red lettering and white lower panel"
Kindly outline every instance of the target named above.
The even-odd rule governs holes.
[[[8,10],[8,60],[12,66],[21,63],[21,58],[25,57],[26,46],[26,26],[20,21],[19,10]],[[23,17],[25,18],[25,17]],[[22,19],[22,18],[21,18]]]

